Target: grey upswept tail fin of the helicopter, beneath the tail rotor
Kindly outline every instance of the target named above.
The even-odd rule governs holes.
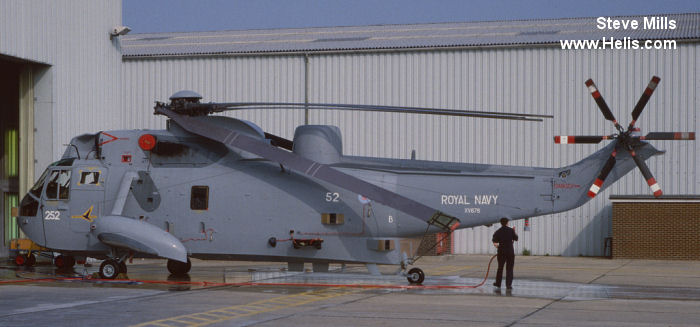
[[[629,152],[623,149],[617,140],[573,165],[555,170],[555,176],[553,176],[554,212],[579,207],[592,199],[589,196],[589,188],[596,182],[598,174],[613,151],[617,152],[615,156],[616,163],[602,185],[599,185],[600,190],[598,194],[600,194],[600,192],[636,167]],[[635,152],[642,160],[663,154],[663,151],[657,150],[646,142],[642,142],[640,146],[636,147]]]

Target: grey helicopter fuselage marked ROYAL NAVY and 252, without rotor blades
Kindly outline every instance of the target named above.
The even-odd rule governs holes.
[[[259,135],[250,123],[218,120]],[[295,137],[295,150],[302,141]],[[84,135],[71,145],[21,208],[24,232],[57,252],[168,257],[163,251],[172,245],[202,259],[398,264],[409,252],[401,238],[441,231],[177,126]],[[615,146],[556,169],[342,155],[326,164],[459,217],[459,228],[468,228],[580,206]],[[644,145],[638,153],[646,159],[657,150]],[[618,158],[604,187],[634,167],[627,159]],[[120,223],[133,227],[113,230]]]

